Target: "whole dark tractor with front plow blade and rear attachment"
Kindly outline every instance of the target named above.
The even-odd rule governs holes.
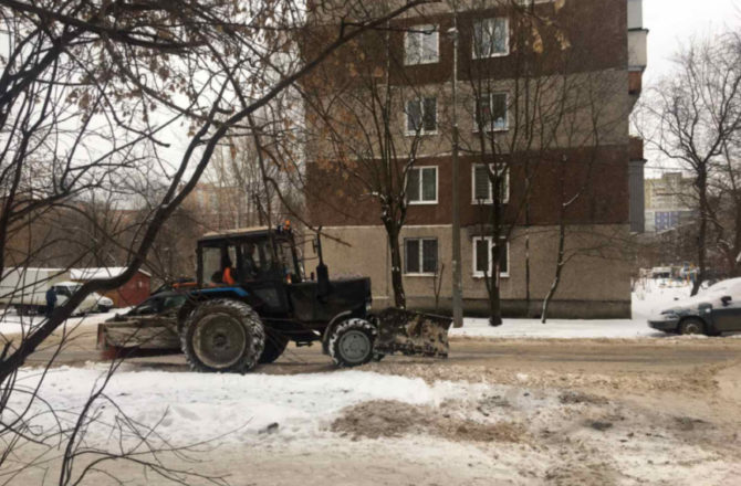
[[[370,313],[370,278],[331,281],[317,235],[309,277],[290,224],[209,233],[198,241],[195,285],[177,311],[98,327],[115,349],[180,348],[197,371],[247,372],[276,360],[289,341],[321,342],[340,367],[386,352],[447,356],[447,317],[387,309]]]

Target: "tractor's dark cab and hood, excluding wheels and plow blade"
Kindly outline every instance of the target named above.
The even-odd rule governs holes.
[[[206,234],[198,242],[198,299],[228,297],[249,304],[284,332],[321,328],[338,314],[365,317],[370,279],[330,282],[316,241],[316,279],[303,275],[290,223]],[[296,324],[301,324],[296,329]]]

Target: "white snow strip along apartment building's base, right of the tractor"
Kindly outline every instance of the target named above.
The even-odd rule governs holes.
[[[647,319],[671,307],[677,300],[689,297],[690,287],[670,281],[648,281],[633,294],[632,319],[578,320],[504,319],[499,327],[489,326],[488,319],[467,318],[463,327],[451,329],[450,336],[484,338],[542,338],[542,339],[628,339],[667,337],[648,327]]]

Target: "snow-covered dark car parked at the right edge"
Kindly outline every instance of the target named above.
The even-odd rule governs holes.
[[[648,320],[654,329],[682,335],[741,331],[741,278],[711,285],[695,297],[678,300]]]

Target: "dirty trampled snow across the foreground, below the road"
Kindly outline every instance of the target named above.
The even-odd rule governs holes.
[[[41,395],[73,420],[104,371],[102,364],[52,370]],[[33,369],[19,377],[24,387],[38,378]],[[456,477],[445,484],[730,484],[741,474],[731,453],[717,446],[733,441],[732,431],[670,411],[524,382],[429,382],[356,370],[234,376],[123,369],[106,392],[134,422],[158,423],[163,441],[215,440],[223,446],[206,453],[207,466],[247,474],[255,485],[324,484],[319,479],[325,475],[303,482],[300,472],[326,457],[336,462],[334,476],[347,480],[335,484],[356,484],[343,468],[368,465],[375,467],[359,479],[374,478],[379,468],[389,478],[422,484],[414,475],[443,456],[468,457],[450,466]],[[115,422],[113,408],[94,414],[86,443],[115,448],[118,437],[108,425]],[[48,432],[53,421],[40,414],[34,425],[35,432]],[[357,457],[366,465],[353,465]],[[270,467],[293,474],[276,483]],[[427,478],[424,484],[435,484]]]

